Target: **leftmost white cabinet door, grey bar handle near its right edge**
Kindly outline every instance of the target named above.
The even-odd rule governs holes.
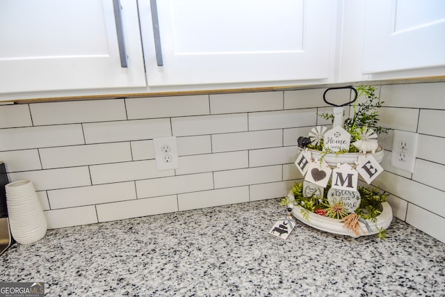
[[[0,0],[0,93],[145,86],[136,0]],[[7,97],[6,97],[7,98]]]

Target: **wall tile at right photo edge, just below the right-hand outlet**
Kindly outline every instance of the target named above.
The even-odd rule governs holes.
[[[445,165],[416,159],[412,179],[416,182],[421,182],[422,184],[445,191],[444,173]]]

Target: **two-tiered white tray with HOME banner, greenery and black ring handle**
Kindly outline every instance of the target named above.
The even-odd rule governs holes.
[[[348,88],[355,97],[334,106],[333,113],[319,114],[332,120],[332,129],[317,126],[308,136],[298,138],[296,167],[305,177],[297,182],[282,200],[293,216],[303,223],[325,232],[353,237],[378,234],[385,239],[392,211],[387,195],[371,184],[383,172],[380,161],[383,148],[378,134],[388,129],[378,126],[378,108],[383,102],[373,86]],[[350,106],[351,116],[343,119],[344,106]]]

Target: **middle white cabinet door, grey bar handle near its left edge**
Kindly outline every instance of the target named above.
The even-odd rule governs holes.
[[[162,66],[149,0],[139,6],[151,87],[330,76],[337,1],[158,0]]]

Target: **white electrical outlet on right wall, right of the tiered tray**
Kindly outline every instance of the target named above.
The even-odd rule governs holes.
[[[407,172],[414,172],[418,135],[414,132],[394,130],[391,166]]]

